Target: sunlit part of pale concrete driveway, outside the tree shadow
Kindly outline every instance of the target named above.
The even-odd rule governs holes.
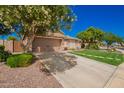
[[[65,53],[74,56],[70,53]],[[55,58],[57,58],[56,55]],[[56,71],[53,76],[66,88],[101,88],[104,87],[116,70],[115,66],[76,56],[76,65],[64,71]],[[56,59],[55,59],[56,60]],[[53,60],[53,61],[55,61]],[[60,59],[61,60],[61,59]],[[61,61],[56,61],[57,64]],[[54,64],[55,65],[55,64]],[[62,64],[60,64],[63,66]]]

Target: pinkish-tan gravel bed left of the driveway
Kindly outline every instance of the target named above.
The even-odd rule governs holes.
[[[10,68],[0,63],[1,88],[61,88],[62,85],[51,75],[41,70],[36,61],[29,67]]]

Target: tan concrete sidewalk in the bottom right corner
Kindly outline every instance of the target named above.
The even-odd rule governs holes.
[[[124,88],[124,63],[117,68],[105,88]]]

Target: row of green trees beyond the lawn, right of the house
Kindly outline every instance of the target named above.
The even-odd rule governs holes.
[[[101,29],[95,27],[89,27],[85,31],[79,32],[77,38],[82,40],[82,47],[98,49],[98,45],[101,42],[105,42],[107,48],[109,48],[113,43],[118,43],[123,46],[124,39],[111,32],[104,32]],[[87,46],[84,44],[88,43]]]

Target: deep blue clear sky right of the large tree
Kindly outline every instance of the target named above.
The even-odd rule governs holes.
[[[124,6],[70,6],[77,15],[71,32],[64,31],[66,35],[75,37],[80,31],[90,26],[102,29],[105,32],[113,32],[124,37]]]

